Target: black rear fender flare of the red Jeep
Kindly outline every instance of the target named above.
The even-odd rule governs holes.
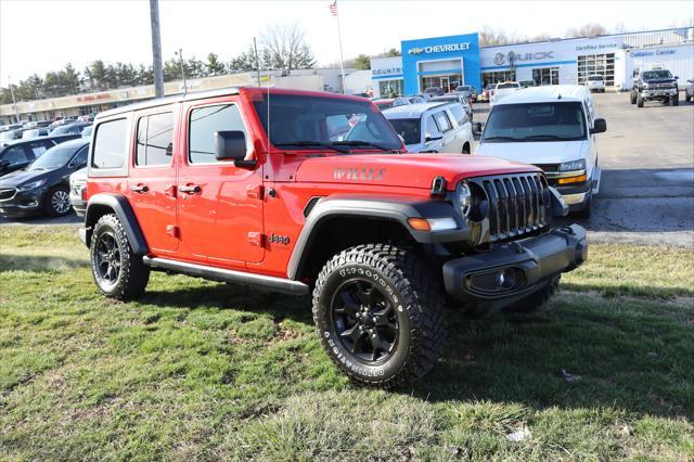
[[[104,207],[113,210],[118,220],[120,220],[128,235],[128,241],[130,241],[132,253],[147,255],[150,249],[142,229],[140,229],[140,223],[138,223],[138,218],[134,216],[128,198],[123,194],[99,193],[89,198],[87,210],[85,211],[85,244],[89,247],[93,227],[99,217],[104,215],[102,213]]]

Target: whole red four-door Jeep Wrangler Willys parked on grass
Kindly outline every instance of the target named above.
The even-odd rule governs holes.
[[[94,121],[82,241],[106,296],[151,270],[312,292],[327,355],[363,384],[422,376],[445,305],[539,309],[587,255],[540,169],[407,154],[368,100],[241,88],[118,107]]]

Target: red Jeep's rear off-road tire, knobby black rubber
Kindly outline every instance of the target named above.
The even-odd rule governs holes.
[[[114,260],[119,261],[119,269],[113,282],[110,282],[103,277],[103,268],[106,264],[101,259],[99,252],[105,248],[105,242],[112,239],[117,248],[117,257]],[[118,217],[108,214],[97,221],[89,249],[91,273],[102,294],[118,300],[129,300],[142,295],[150,281],[150,268],[142,262],[142,257],[132,253],[128,235]]]

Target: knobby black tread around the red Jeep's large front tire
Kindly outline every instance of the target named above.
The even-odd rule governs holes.
[[[343,368],[332,355],[330,355],[331,359],[354,381],[363,385],[398,388],[413,383],[434,367],[446,341],[446,318],[440,284],[410,251],[388,244],[364,244],[340,252],[325,264],[313,290],[313,322],[326,348],[326,341],[319,329],[319,294],[327,277],[336,268],[346,264],[361,264],[376,268],[411,305],[412,342],[408,355],[411,359],[404,362],[402,370],[387,380],[377,380],[377,377],[364,380]]]

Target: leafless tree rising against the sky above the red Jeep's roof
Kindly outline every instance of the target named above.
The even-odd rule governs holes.
[[[268,27],[260,35],[260,43],[270,53],[274,68],[292,70],[316,67],[316,59],[298,23]]]

